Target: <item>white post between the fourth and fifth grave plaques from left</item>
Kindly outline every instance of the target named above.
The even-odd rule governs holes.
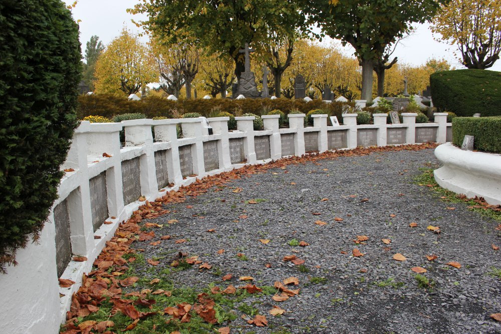
[[[181,163],[179,162],[179,145],[177,143],[178,119],[155,120],[155,140],[157,142],[170,142],[170,150],[167,150],[167,173],[169,181],[179,184],[183,181]]]

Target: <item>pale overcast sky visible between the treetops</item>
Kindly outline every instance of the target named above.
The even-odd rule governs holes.
[[[65,0],[68,5],[73,2],[74,0]],[[92,35],[99,36],[106,45],[120,34],[124,26],[138,32],[140,29],[131,20],[139,21],[141,17],[130,15],[126,10],[139,2],[140,0],[79,0],[76,8],[72,9],[72,14],[75,20],[82,20],[79,24],[82,52]],[[353,55],[353,48],[343,48],[340,42],[336,44],[346,55]],[[419,25],[414,34],[399,43],[394,56],[398,57],[399,63],[412,65],[424,64],[429,58],[445,58],[456,69],[464,68],[454,58],[453,51],[454,48],[433,40],[428,25]],[[491,70],[501,71],[501,61],[497,61]]]

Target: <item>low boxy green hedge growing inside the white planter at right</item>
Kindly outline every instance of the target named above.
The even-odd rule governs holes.
[[[475,137],[475,150],[501,153],[501,117],[453,118],[452,142],[460,147],[465,135]]]

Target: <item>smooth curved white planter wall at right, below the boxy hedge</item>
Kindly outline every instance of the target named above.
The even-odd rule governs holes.
[[[463,151],[451,143],[435,149],[443,164],[434,171],[437,183],[468,198],[483,197],[489,204],[501,204],[501,155]]]

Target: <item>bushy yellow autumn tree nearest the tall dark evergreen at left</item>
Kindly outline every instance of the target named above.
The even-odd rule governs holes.
[[[124,28],[96,62],[95,92],[135,94],[148,83],[157,81],[153,65],[148,48],[137,35]]]

